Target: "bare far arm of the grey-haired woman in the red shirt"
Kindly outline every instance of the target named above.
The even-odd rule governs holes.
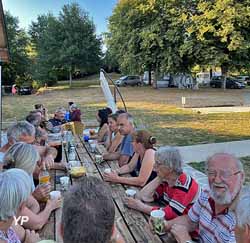
[[[144,202],[153,202],[156,188],[161,184],[162,180],[157,176],[154,180],[148,183],[137,194],[137,197]]]

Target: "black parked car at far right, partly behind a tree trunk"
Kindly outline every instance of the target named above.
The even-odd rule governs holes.
[[[223,77],[222,76],[212,77],[212,79],[210,81],[210,87],[222,88],[223,87]],[[238,81],[235,78],[227,77],[226,88],[227,89],[243,89],[243,88],[245,88],[245,84],[243,84],[242,82]]]

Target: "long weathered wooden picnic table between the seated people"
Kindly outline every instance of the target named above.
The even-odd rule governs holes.
[[[87,169],[86,176],[95,176],[103,180],[103,173],[106,168],[112,170],[118,169],[118,163],[116,161],[104,161],[102,163],[95,163],[95,155],[105,152],[105,148],[102,145],[97,145],[93,152],[89,143],[84,142],[82,137],[74,137],[76,145],[76,159],[80,161]],[[62,146],[62,161],[68,162],[68,153],[65,146]],[[61,190],[58,177],[67,175],[63,171],[51,172],[51,183],[54,190]],[[72,179],[71,183],[78,183],[78,179]],[[115,205],[115,225],[118,231],[123,236],[125,242],[134,243],[161,243],[161,242],[176,242],[170,234],[159,236],[154,234],[148,224],[148,215],[138,212],[133,209],[127,208],[123,199],[125,197],[126,185],[109,183],[112,191],[112,197]],[[131,188],[131,187],[130,187]],[[138,189],[136,189],[138,190]],[[63,195],[64,192],[62,192]],[[51,239],[58,243],[63,243],[60,234],[60,222],[61,222],[62,209],[57,209],[49,218],[48,223],[39,232],[41,239]]]

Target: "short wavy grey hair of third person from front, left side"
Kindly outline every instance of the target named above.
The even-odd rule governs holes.
[[[12,138],[18,142],[21,135],[35,136],[35,131],[35,127],[31,123],[27,121],[21,121],[9,127],[7,131],[7,138],[8,140]]]

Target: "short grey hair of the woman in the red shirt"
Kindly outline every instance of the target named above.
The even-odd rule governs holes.
[[[155,161],[172,169],[177,175],[183,172],[182,158],[179,150],[175,147],[160,147],[155,153]]]

